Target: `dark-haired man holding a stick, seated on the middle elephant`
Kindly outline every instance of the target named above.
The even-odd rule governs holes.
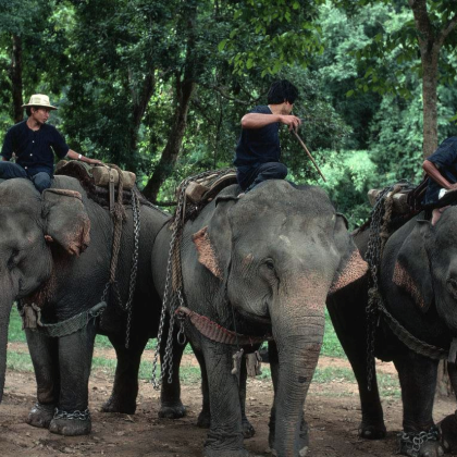
[[[280,162],[280,124],[297,129],[301,121],[292,115],[298,89],[287,79],[273,83],[268,92],[268,106],[254,108],[242,119],[242,135],[234,164],[238,184],[250,190],[265,180],[284,180],[287,168]]]

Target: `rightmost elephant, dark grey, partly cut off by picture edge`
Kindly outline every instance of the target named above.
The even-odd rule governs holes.
[[[407,331],[436,349],[447,350],[457,336],[456,223],[457,207],[444,210],[435,225],[424,219],[424,212],[416,215],[390,236],[378,267],[382,302],[404,329],[395,333],[404,338]],[[363,258],[369,232],[361,230],[354,235]],[[328,300],[328,309],[358,382],[362,412],[360,436],[375,440],[384,437],[386,429],[374,367],[370,368],[367,359],[367,342],[373,341],[366,316],[368,304],[369,281],[365,276],[333,294]],[[398,372],[404,410],[400,452],[434,457],[443,454],[443,445],[446,450],[456,450],[455,417],[447,417],[440,424],[441,442],[432,417],[441,351],[432,359],[425,356],[422,346],[411,349],[411,345],[402,343],[392,330],[395,330],[393,319],[382,313],[375,328],[374,356],[393,361]],[[454,378],[456,388],[455,354],[453,359],[449,368],[454,376],[450,379]],[[372,383],[367,375],[369,371],[373,373]]]

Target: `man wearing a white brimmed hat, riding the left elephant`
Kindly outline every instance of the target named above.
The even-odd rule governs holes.
[[[0,178],[26,177],[42,193],[51,186],[54,153],[59,159],[67,156],[90,164],[101,163],[70,149],[58,129],[47,124],[51,110],[57,110],[48,96],[35,94],[23,108],[26,109],[27,120],[13,125],[4,137]],[[16,163],[10,162],[13,152]]]

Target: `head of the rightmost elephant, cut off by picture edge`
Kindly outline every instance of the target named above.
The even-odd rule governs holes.
[[[439,319],[457,336],[457,208],[449,207],[435,225],[417,220],[395,258],[392,281],[413,302],[419,316],[435,305]],[[443,335],[444,336],[444,335]]]

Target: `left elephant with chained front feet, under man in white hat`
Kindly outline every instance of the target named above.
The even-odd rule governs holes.
[[[52,188],[42,195],[28,180],[0,184],[0,400],[9,316],[15,300],[26,318],[30,309],[39,308],[44,325],[62,322],[71,325],[75,316],[76,320],[83,316],[88,321],[70,333],[25,330],[37,381],[37,404],[27,419],[30,425],[63,435],[90,432],[88,379],[97,332],[109,336],[118,356],[113,391],[103,411],[135,412],[140,356],[148,338],[158,333],[161,311],[161,299],[152,283],[150,252],[156,235],[169,220],[158,208],[140,201],[136,287],[129,291],[134,234],[132,208],[126,208],[116,274],[122,304],[111,291],[108,306],[97,319],[96,310],[89,314],[87,311],[101,301],[110,277],[113,238],[110,211],[89,198],[79,181],[70,176],[55,176]],[[127,302],[131,292],[127,329],[129,312],[121,306]],[[177,366],[181,354],[174,353]],[[159,415],[184,413],[175,370],[174,383],[163,386]]]

